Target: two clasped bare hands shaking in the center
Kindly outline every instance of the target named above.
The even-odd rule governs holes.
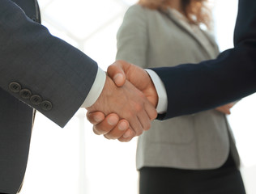
[[[142,68],[116,61],[107,71],[105,86],[87,119],[94,133],[108,139],[130,141],[150,129],[156,119],[158,95],[150,76]]]

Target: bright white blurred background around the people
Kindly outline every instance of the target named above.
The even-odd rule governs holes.
[[[39,0],[42,23],[106,70],[115,59],[116,33],[126,9],[137,0]],[[212,0],[220,50],[233,47],[237,0]],[[256,95],[228,116],[241,154],[248,194],[256,193]],[[79,110],[64,129],[40,113],[32,132],[28,170],[21,194],[136,194],[136,139],[105,140],[92,132]]]

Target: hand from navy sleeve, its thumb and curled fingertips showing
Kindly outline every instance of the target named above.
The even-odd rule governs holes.
[[[139,91],[146,95],[147,99],[156,108],[158,103],[156,88],[145,70],[126,61],[116,61],[109,66],[108,74],[117,86],[123,86],[126,79],[129,80]],[[87,112],[87,120],[93,124],[94,133],[104,134],[108,139],[130,141],[135,135],[138,135],[130,129],[127,120],[120,120],[117,114],[114,113],[105,116],[102,112]]]

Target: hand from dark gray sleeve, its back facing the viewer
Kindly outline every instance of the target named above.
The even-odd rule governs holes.
[[[88,112],[117,113],[126,119],[135,135],[140,135],[143,130],[151,126],[151,120],[157,116],[156,108],[147,100],[141,91],[136,89],[129,81],[122,83],[122,87],[117,87],[113,80],[107,76],[105,86]]]

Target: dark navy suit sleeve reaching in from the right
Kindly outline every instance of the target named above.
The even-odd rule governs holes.
[[[154,68],[168,95],[161,120],[215,108],[256,91],[256,2],[240,0],[234,48],[199,64]]]

